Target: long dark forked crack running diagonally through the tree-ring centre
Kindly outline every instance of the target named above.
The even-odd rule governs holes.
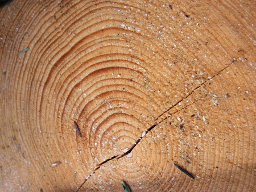
[[[201,83],[199,86],[197,86],[193,91],[191,91],[191,93],[189,93],[186,97],[184,97],[183,99],[181,99],[180,101],[178,101],[177,103],[175,103],[175,105],[173,105],[172,107],[168,108],[168,110],[164,111],[161,115],[158,116],[158,118],[156,118],[156,122],[157,122],[157,120],[158,120],[161,116],[163,116],[164,114],[166,114],[166,112],[170,111],[172,108],[174,108],[176,105],[178,105],[181,101],[183,101],[183,100],[185,100],[186,98],[188,98],[191,94],[193,94],[197,89],[199,89],[199,87],[201,87],[202,85],[204,85],[207,81],[209,81],[209,80],[211,80],[212,78],[218,76],[223,70],[225,70],[226,68],[228,68],[230,65],[231,65],[231,64],[227,65],[225,68],[223,68],[223,69],[221,69],[220,71],[218,71],[218,72],[217,72],[216,74],[214,74],[212,77],[209,77],[207,80],[205,80],[205,81],[204,81],[203,83]],[[196,101],[193,102],[193,103],[196,103],[197,101],[199,101],[199,100],[196,100]],[[184,108],[187,108],[188,106],[193,105],[193,103],[190,103],[189,105],[187,105],[187,106],[181,108],[180,110],[177,110],[176,112],[179,112],[179,111],[183,110]],[[82,187],[82,185],[84,185],[84,183],[85,183],[87,180],[89,180],[89,178],[96,172],[96,170],[100,169],[101,165],[105,164],[106,162],[108,162],[108,161],[110,161],[110,160],[113,160],[114,158],[119,159],[119,158],[121,158],[121,157],[123,157],[123,156],[126,156],[126,155],[128,155],[129,153],[131,153],[131,151],[133,151],[133,149],[136,147],[136,145],[141,141],[141,139],[142,139],[145,135],[147,135],[148,132],[150,132],[153,128],[155,128],[156,126],[158,126],[158,124],[162,123],[164,120],[170,118],[170,116],[176,114],[176,112],[174,112],[174,113],[171,114],[171,115],[166,116],[166,118],[164,118],[164,119],[161,120],[160,122],[158,122],[158,123],[154,124],[153,126],[151,126],[150,128],[148,128],[148,129],[146,130],[146,133],[145,133],[143,136],[139,137],[139,139],[135,142],[135,144],[133,144],[133,146],[132,146],[127,152],[123,153],[122,155],[115,155],[115,156],[113,156],[113,157],[111,157],[111,158],[108,158],[107,160],[101,162],[100,164],[98,164],[97,167],[93,170],[93,172],[90,173],[90,175],[85,179],[84,182],[82,182],[82,184],[81,184],[80,187],[77,189],[77,191],[80,190],[80,188]]]

